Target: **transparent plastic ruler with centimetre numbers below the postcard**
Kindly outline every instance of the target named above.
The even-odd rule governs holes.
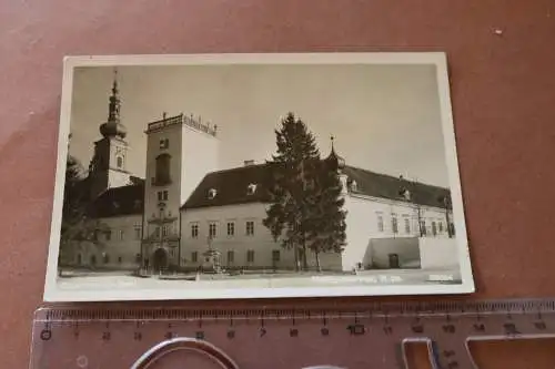
[[[555,299],[54,306],[36,312],[30,368],[394,369],[420,341],[433,368],[466,369],[472,340],[552,337]]]

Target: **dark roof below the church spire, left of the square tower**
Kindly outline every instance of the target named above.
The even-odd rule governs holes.
[[[103,192],[93,203],[92,217],[141,215],[144,208],[144,182]]]

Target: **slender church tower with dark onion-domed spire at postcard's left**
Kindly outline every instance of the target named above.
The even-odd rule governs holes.
[[[111,187],[130,184],[127,170],[129,144],[127,129],[120,122],[121,100],[118,90],[118,75],[114,71],[112,94],[109,99],[108,120],[99,127],[102,139],[94,143],[94,154],[89,165],[92,198]]]

